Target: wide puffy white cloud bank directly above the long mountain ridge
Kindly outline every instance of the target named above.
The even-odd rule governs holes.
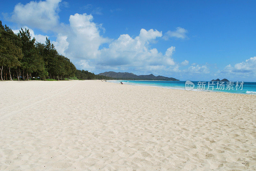
[[[162,32],[153,29],[141,29],[139,36],[134,39],[128,34],[121,34],[118,39],[109,44],[108,48],[100,50],[101,57],[96,65],[122,66],[126,69],[133,67],[140,70],[170,68],[175,65],[172,59],[175,47],[168,48],[165,55],[158,52],[156,48],[148,48],[150,41],[161,36]]]

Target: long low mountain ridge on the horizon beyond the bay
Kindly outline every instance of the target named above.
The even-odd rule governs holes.
[[[114,72],[114,71],[108,71],[103,72],[98,75],[104,75],[107,77],[117,78],[117,79],[123,79],[123,80],[164,80],[164,81],[180,81],[176,78],[169,78],[164,76],[154,76],[153,74],[150,75],[135,75],[133,73],[129,72]]]

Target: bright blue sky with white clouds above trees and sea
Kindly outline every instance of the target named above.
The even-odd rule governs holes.
[[[14,32],[49,37],[77,69],[256,81],[256,1],[4,1]]]

